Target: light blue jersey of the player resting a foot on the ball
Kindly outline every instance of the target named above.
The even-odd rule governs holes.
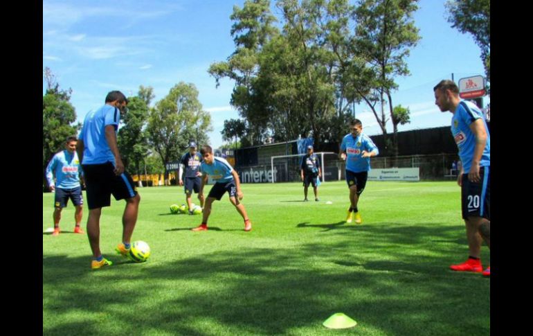
[[[83,164],[98,164],[107,161],[115,164],[115,157],[105,138],[105,127],[114,125],[116,132],[118,123],[120,123],[120,111],[107,104],[85,116],[80,132],[80,139],[84,145]]]

